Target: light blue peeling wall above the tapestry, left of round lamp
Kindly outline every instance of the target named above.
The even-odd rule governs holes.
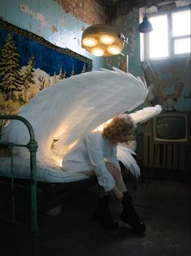
[[[61,2],[68,2],[68,4],[70,2],[67,12],[61,6]],[[78,6],[77,2],[79,3]],[[88,1],[76,0],[76,6],[74,6],[74,1],[60,1],[59,3],[59,1],[54,0],[0,0],[0,18],[19,28],[44,37],[45,40],[54,45],[69,48],[76,53],[91,58],[93,69],[97,70],[104,66],[103,58],[94,57],[81,47],[83,30],[89,27],[90,23],[83,21],[83,19],[77,19],[79,16],[75,15],[79,11],[80,2],[84,2],[83,6],[86,6]],[[96,0],[91,2],[91,8],[94,5],[97,6]],[[69,9],[71,6],[73,13]],[[89,10],[87,7],[90,8],[86,6],[86,13]],[[91,15],[91,19],[97,17],[97,20],[99,20],[100,17],[104,17],[104,11],[100,11],[100,6],[99,8],[97,6],[97,10],[100,15],[95,12],[94,16]]]

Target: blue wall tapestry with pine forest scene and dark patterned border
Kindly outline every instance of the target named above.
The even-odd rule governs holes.
[[[91,59],[0,19],[0,114],[16,114],[40,90],[91,67]]]

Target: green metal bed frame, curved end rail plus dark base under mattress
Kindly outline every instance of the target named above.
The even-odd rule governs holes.
[[[10,164],[11,164],[11,176],[0,176],[3,184],[11,183],[11,207],[12,213],[11,218],[6,218],[0,215],[3,220],[11,221],[13,224],[21,224],[16,220],[15,214],[15,188],[19,187],[22,189],[30,190],[30,214],[31,214],[31,233],[32,233],[32,256],[37,256],[38,254],[38,241],[39,241],[39,224],[38,224],[38,214],[41,212],[46,212],[57,207],[67,194],[76,193],[79,190],[84,190],[90,188],[91,186],[97,185],[96,177],[90,177],[81,181],[71,181],[64,183],[54,183],[45,181],[36,181],[36,151],[38,148],[34,130],[32,125],[28,120],[23,117],[15,115],[0,115],[0,120],[18,120],[23,122],[28,128],[28,133],[30,135],[29,142],[27,144],[16,144],[16,143],[1,143],[0,149],[6,148],[10,152]],[[21,179],[19,177],[13,176],[14,162],[13,162],[13,148],[14,147],[26,147],[30,152],[30,174],[31,177],[28,179]],[[40,190],[40,192],[38,191]],[[45,194],[45,198],[43,197]],[[37,196],[40,195],[40,196]],[[41,198],[42,195],[42,198]],[[38,199],[38,200],[37,200]],[[40,202],[40,200],[42,202]],[[38,204],[38,201],[40,202]]]

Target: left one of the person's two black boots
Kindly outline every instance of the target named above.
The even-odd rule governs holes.
[[[108,203],[109,195],[104,195],[103,198],[100,198],[98,207],[96,207],[96,210],[93,213],[93,220],[100,221],[105,228],[118,228],[117,221],[112,220]]]

